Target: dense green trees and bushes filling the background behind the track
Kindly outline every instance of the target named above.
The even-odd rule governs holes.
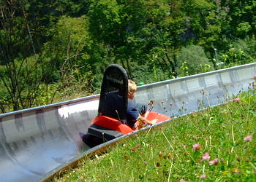
[[[97,93],[110,63],[140,84],[253,62],[255,8],[252,0],[0,1],[1,111]]]

